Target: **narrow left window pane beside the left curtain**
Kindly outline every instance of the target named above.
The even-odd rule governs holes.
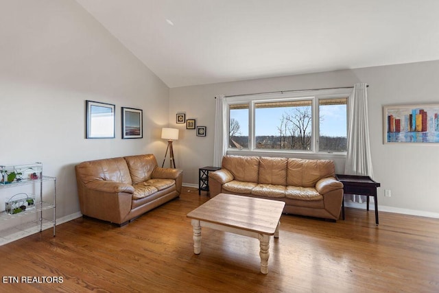
[[[248,148],[248,104],[230,105],[228,147]]]

